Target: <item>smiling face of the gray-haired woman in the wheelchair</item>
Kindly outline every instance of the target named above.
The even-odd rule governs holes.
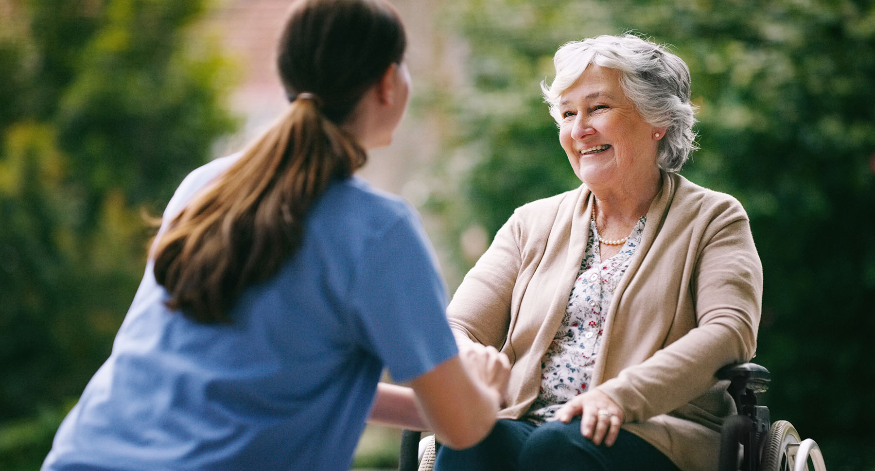
[[[577,178],[591,188],[658,172],[664,128],[644,121],[620,87],[620,71],[590,65],[559,99],[559,143]],[[655,134],[659,133],[659,137]]]

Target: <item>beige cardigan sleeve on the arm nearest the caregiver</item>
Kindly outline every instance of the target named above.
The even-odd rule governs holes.
[[[447,307],[457,340],[467,338],[500,349],[507,339],[521,265],[520,233],[521,223],[514,213],[458,286]]]

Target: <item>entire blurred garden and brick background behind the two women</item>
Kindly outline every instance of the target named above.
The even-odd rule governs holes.
[[[394,0],[414,94],[362,172],[416,205],[451,292],[514,207],[579,185],[540,81],[573,39],[641,32],[690,66],[681,172],[750,214],[764,396],[830,470],[875,470],[875,2]],[[287,0],[0,0],[0,468],[37,469],[179,181],[283,108]],[[369,426],[355,467],[396,465]]]

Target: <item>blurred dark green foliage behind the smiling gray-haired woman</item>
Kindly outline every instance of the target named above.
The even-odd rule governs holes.
[[[702,150],[682,173],[741,200],[764,264],[765,398],[830,469],[872,470],[875,3],[458,0],[446,18],[467,39],[471,87],[450,103],[444,172],[458,186],[431,208],[459,234],[494,234],[514,207],[579,185],[538,87],[558,46],[630,30],[674,46],[701,107]]]

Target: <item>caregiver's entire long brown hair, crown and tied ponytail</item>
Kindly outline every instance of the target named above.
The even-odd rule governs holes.
[[[160,236],[152,256],[167,306],[201,322],[229,321],[242,290],[279,270],[303,240],[313,201],[364,165],[365,151],[339,123],[404,47],[385,0],[292,6],[278,66],[293,101]],[[295,100],[302,92],[312,98]]]

